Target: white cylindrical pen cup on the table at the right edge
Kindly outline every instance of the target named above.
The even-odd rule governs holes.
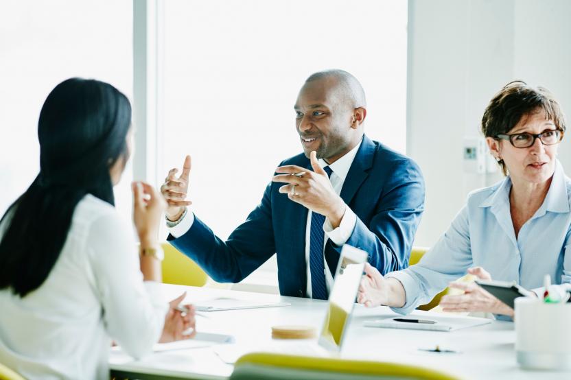
[[[571,303],[515,299],[515,352],[522,368],[571,369]]]

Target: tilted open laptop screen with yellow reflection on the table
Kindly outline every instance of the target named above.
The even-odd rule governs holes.
[[[329,351],[341,351],[366,258],[366,252],[347,244],[341,250],[327,314],[319,335],[319,345]]]

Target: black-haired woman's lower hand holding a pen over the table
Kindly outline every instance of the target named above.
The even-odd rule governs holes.
[[[185,296],[186,292],[169,302],[169,311],[165,316],[165,325],[163,327],[163,334],[161,335],[159,343],[189,339],[196,335],[194,307],[192,305],[184,305],[188,310],[187,312],[181,312],[175,309],[180,302],[183,302]]]

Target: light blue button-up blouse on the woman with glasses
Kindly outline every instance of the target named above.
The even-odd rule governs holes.
[[[527,289],[541,287],[545,274],[550,274],[553,283],[571,282],[571,253],[566,255],[571,180],[561,163],[555,163],[546,198],[517,239],[511,222],[510,189],[511,180],[506,177],[470,193],[450,228],[417,265],[386,275],[397,278],[406,292],[406,304],[394,311],[410,313],[430,302],[473,266],[487,270],[493,280],[516,281]]]

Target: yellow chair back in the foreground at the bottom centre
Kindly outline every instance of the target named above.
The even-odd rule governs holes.
[[[231,380],[456,380],[439,370],[408,364],[306,357],[276,353],[248,353],[235,363]]]

